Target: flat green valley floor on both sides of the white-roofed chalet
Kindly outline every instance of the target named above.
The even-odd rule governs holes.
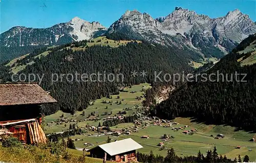
[[[142,149],[139,149],[138,151],[146,154],[149,154],[152,150],[155,155],[158,154],[166,156],[167,150],[170,148],[174,148],[176,154],[179,156],[196,156],[199,150],[206,156],[206,152],[208,150],[213,150],[216,146],[217,152],[219,154],[222,154],[223,156],[226,155],[228,158],[238,158],[238,155],[240,154],[241,157],[248,155],[250,157],[250,161],[256,161],[256,143],[249,142],[249,140],[254,136],[254,133],[247,133],[245,131],[234,131],[235,128],[231,126],[216,126],[205,125],[202,123],[191,123],[188,118],[177,118],[175,122],[181,122],[179,125],[173,125],[173,127],[175,128],[184,127],[185,125],[188,125],[189,127],[183,130],[174,131],[172,130],[172,127],[148,125],[145,128],[138,129],[138,132],[132,132],[131,135],[121,135],[118,137],[111,135],[110,138],[112,139],[112,141],[114,141],[115,139],[120,140],[124,138],[132,138],[144,147]],[[124,127],[123,125],[124,124],[113,126],[112,129],[121,129],[122,127]],[[129,125],[127,124],[126,127],[127,126]],[[195,134],[193,135],[182,133],[184,130],[190,129],[197,129],[197,132],[195,132]],[[97,136],[99,134],[97,132],[88,133],[96,136],[71,136],[72,139],[80,139],[80,141],[75,142],[77,148],[90,149],[97,145],[105,144],[106,139],[109,136]],[[160,137],[164,134],[174,136],[174,138],[171,138],[169,139],[169,141],[164,142],[165,149],[161,150],[161,148],[157,145],[160,142],[163,142]],[[221,139],[214,138],[218,134],[224,134],[225,137]],[[141,138],[142,135],[148,135],[150,136],[150,138],[143,139]],[[90,143],[93,144],[93,146],[86,147],[83,145],[84,143]],[[241,149],[237,149],[237,146],[241,146]]]

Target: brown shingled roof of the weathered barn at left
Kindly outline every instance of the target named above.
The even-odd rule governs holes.
[[[0,84],[0,106],[57,102],[35,83]]]

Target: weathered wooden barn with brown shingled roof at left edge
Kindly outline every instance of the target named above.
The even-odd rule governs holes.
[[[23,144],[46,143],[41,129],[41,104],[57,102],[36,83],[0,84],[0,129]]]

